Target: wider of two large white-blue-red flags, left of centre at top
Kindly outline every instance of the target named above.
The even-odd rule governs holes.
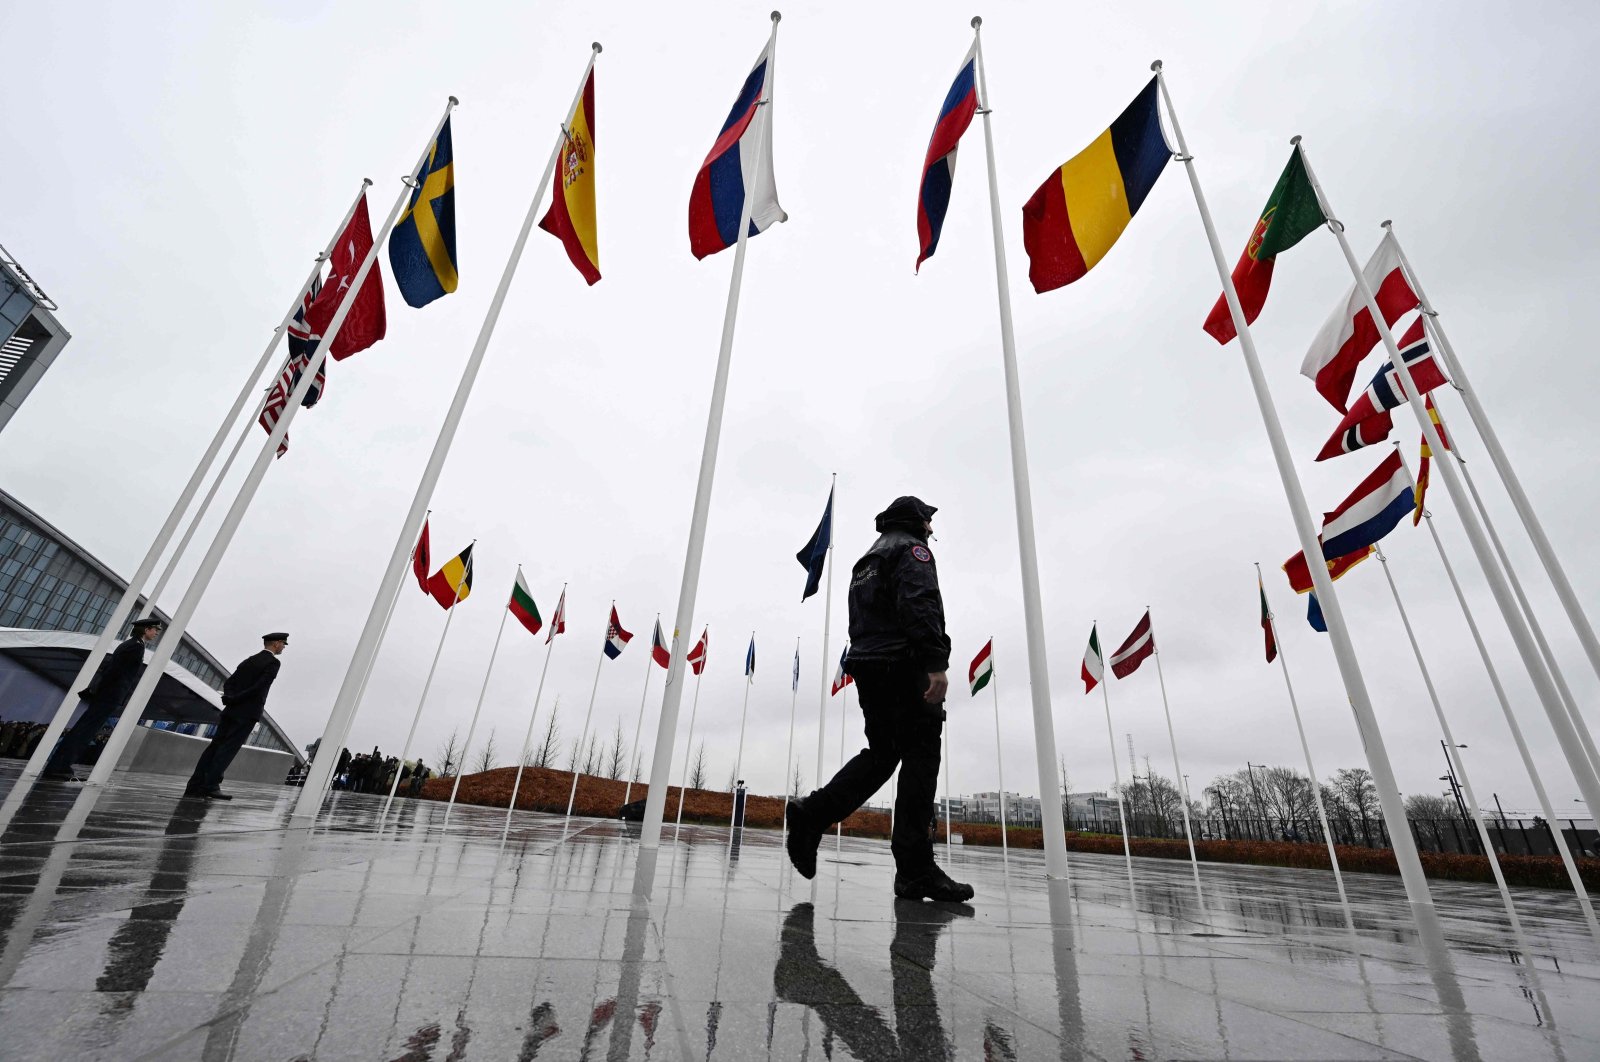
[[[744,78],[717,142],[694,174],[694,187],[690,190],[690,250],[694,258],[715,254],[739,242],[746,195],[755,197],[750,203],[749,235],[789,221],[789,214],[778,205],[778,179],[773,176],[771,69],[768,45]],[[762,134],[746,138],[763,102],[768,115],[762,123]]]

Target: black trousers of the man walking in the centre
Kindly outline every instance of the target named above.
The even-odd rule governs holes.
[[[878,792],[894,768],[894,867],[917,873],[933,865],[933,796],[939,785],[939,741],[944,705],[922,699],[928,672],[915,664],[851,662],[851,678],[866,717],[867,747],[819,790],[805,798],[803,812],[819,830],[846,819]]]

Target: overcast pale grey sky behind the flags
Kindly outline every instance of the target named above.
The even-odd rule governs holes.
[[[269,707],[298,742],[320,734],[589,42],[600,40],[605,278],[586,288],[544,234],[528,245],[432,502],[435,558],[475,537],[478,573],[418,749],[432,761],[453,726],[464,733],[518,561],[546,614],[562,582],[571,584],[542,709],[560,697],[568,739],[616,598],[638,640],[605,664],[595,725],[610,733],[622,720],[630,733],[651,624],[659,611],[670,629],[675,611],[733,264],[730,253],[691,258],[688,190],[766,38],[768,10],[13,10],[8,80],[24,91],[0,118],[10,144],[0,238],[61,304],[74,339],[6,430],[0,485],[131,573],[355,184],[376,181],[378,224],[445,96],[459,96],[461,289],[411,310],[381,259],[389,337],[336,365],[323,405],[296,419],[293,449],[267,477],[192,625],[229,664],[254,651],[264,630],[293,632]],[[971,702],[963,685],[992,633],[1006,785],[1037,792],[976,123],[939,253],[920,277],[912,272],[920,163],[974,8],[896,11],[784,6],[774,155],[790,219],[749,251],[693,630],[709,622],[714,637],[698,733],[722,784],[754,629],[760,669],[744,774],[757,790],[779,792],[800,637],[795,744],[814,784],[822,598],[800,603],[794,552],[837,470],[835,659],[843,574],[872,541],[872,513],[901,493],[939,505],[934,550],[955,643],[954,787],[994,789],[990,701],[986,693]],[[1318,768],[1362,763],[1328,641],[1304,624],[1304,601],[1277,573],[1296,542],[1237,345],[1221,349],[1200,331],[1218,280],[1179,168],[1168,166],[1085,280],[1046,296],[1027,286],[1022,202],[1126,106],[1154,58],[1166,61],[1230,262],[1296,133],[1358,256],[1376,245],[1378,222],[1395,219],[1574,585],[1594,598],[1592,10],[998,3],[981,13],[1056,737],[1074,789],[1110,781],[1099,697],[1083,697],[1077,680],[1090,624],[1101,622],[1109,651],[1146,605],[1194,789],[1246,758],[1301,761],[1283,680],[1261,656],[1258,560]],[[1314,509],[1331,509],[1382,456],[1374,448],[1310,461],[1338,416],[1298,366],[1347,285],[1333,238],[1315,234],[1278,262],[1254,331]],[[1442,406],[1590,726],[1600,726],[1600,685],[1466,413],[1454,395]],[[1414,457],[1414,424],[1397,422]],[[1576,785],[1442,485],[1432,501],[1552,800],[1574,808]],[[1531,808],[1430,542],[1406,523],[1386,549],[1458,739],[1470,745],[1480,798],[1498,792],[1507,809]],[[1402,789],[1438,792],[1437,726],[1378,565],[1341,582],[1341,600]],[[414,590],[402,597],[352,749],[398,752],[443,621]],[[507,630],[483,726],[498,729],[506,761],[541,659],[542,638]],[[646,741],[661,675],[651,672]],[[1131,733],[1141,760],[1171,774],[1154,667],[1114,683],[1110,696],[1118,753]],[[830,765],[838,707],[829,705]],[[853,699],[848,734],[859,747]]]

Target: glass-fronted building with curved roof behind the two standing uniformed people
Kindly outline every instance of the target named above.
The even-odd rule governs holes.
[[[126,590],[106,565],[32,509],[0,491],[0,755],[26,755],[18,726],[48,723]],[[141,598],[138,616],[146,616]],[[157,616],[166,619],[160,609]],[[118,632],[126,637],[126,629]],[[251,646],[254,649],[256,646]],[[243,656],[243,653],[240,653]],[[187,774],[222,710],[229,669],[187,633],[173,653],[118,769]],[[230,777],[280,782],[304,763],[269,715]]]

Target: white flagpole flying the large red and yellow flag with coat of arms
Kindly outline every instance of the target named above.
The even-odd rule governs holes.
[[[373,608],[366,614],[366,624],[362,627],[362,635],[355,643],[355,653],[350,656],[350,665],[344,672],[344,681],[339,686],[339,696],[333,702],[333,712],[328,713],[328,723],[323,731],[325,734],[336,734],[341,729],[347,729],[350,726],[350,720],[355,717],[355,694],[362,681],[362,672],[366,667],[366,659],[378,651],[378,629],[382,625],[382,601],[394,592],[394,587],[400,582],[400,579],[405,577],[405,563],[410,555],[411,542],[416,539],[418,528],[422,526],[422,521],[418,517],[427,510],[427,502],[434,494],[434,485],[438,483],[438,475],[445,467],[445,459],[450,456],[450,445],[456,438],[456,427],[459,427],[461,416],[467,408],[467,398],[472,397],[472,385],[478,379],[478,368],[483,365],[483,355],[488,350],[490,337],[494,334],[494,325],[499,321],[501,307],[506,304],[506,294],[510,291],[510,281],[517,275],[517,264],[522,261],[523,246],[528,243],[528,234],[533,232],[533,224],[538,219],[539,202],[544,198],[544,190],[550,186],[550,174],[555,171],[555,160],[566,146],[566,126],[571,125],[573,112],[582,101],[582,91],[589,80],[589,70],[594,69],[595,56],[598,54],[600,45],[590,45],[589,62],[584,67],[582,77],[578,78],[578,90],[573,93],[573,102],[566,109],[566,122],[563,122],[562,128],[557,130],[555,144],[550,147],[550,157],[544,165],[544,176],[539,178],[539,184],[533,194],[533,202],[528,203],[528,214],[523,218],[522,230],[517,234],[517,242],[512,245],[510,258],[506,259],[506,270],[501,273],[499,286],[494,288],[494,297],[490,299],[490,309],[483,315],[483,325],[478,328],[478,337],[472,344],[472,353],[467,355],[467,363],[461,369],[461,381],[456,384],[456,393],[450,400],[450,409],[445,413],[445,422],[438,425],[438,437],[434,440],[434,453],[429,454],[427,465],[422,469],[422,478],[416,485],[416,494],[411,497],[411,507],[400,521],[400,534],[395,537],[394,550],[389,555],[389,566],[384,569],[382,582],[373,595]],[[421,166],[421,163],[418,165]],[[322,781],[333,771],[333,761],[325,760],[322,755],[325,745],[326,742],[317,749],[317,758],[312,761],[307,782],[312,779]],[[306,792],[301,793],[301,800],[294,804],[293,817],[317,817],[318,808],[307,798],[307,793],[310,792],[312,789],[307,785]]]

